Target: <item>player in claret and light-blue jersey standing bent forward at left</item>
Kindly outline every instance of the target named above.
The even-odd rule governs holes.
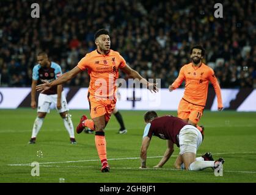
[[[35,101],[35,86],[42,83],[41,80],[52,80],[57,79],[62,74],[62,70],[57,63],[50,62],[48,55],[45,52],[39,52],[37,55],[38,64],[33,68],[32,85],[31,85],[31,107],[35,109],[37,103]],[[65,98],[62,85],[45,90],[39,94],[38,107],[37,107],[37,118],[35,118],[34,126],[32,130],[31,140],[29,144],[34,144],[35,139],[39,130],[42,127],[43,120],[45,119],[46,113],[49,113],[51,104],[54,104],[57,112],[63,119],[64,126],[70,136],[70,143],[76,144],[74,127],[71,120],[71,115],[68,114],[68,105]]]

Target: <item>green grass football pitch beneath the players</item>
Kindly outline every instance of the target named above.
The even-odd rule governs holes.
[[[38,133],[36,144],[27,144],[31,137],[36,110],[20,108],[0,110],[0,182],[256,182],[256,113],[205,111],[200,124],[205,126],[205,140],[197,156],[211,152],[214,158],[224,157],[222,177],[213,170],[177,171],[175,151],[162,169],[153,169],[166,151],[166,141],[153,137],[148,149],[148,169],[141,170],[140,148],[144,131],[144,111],[120,111],[128,133],[117,134],[119,125],[112,116],[106,127],[106,141],[111,172],[100,172],[100,160],[94,135],[81,133],[78,144],[71,145],[62,119],[51,110]],[[74,127],[86,110],[70,110]],[[160,112],[158,115],[176,115]],[[37,151],[43,156],[38,157]],[[40,163],[40,176],[31,176],[31,163]]]

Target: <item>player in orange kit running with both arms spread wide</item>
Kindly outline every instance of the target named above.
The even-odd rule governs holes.
[[[95,44],[97,49],[86,54],[75,68],[67,73],[62,74],[53,82],[44,81],[42,85],[36,88],[38,91],[48,90],[49,88],[65,83],[68,80],[86,71],[90,75],[90,85],[88,90],[88,100],[90,105],[90,116],[92,119],[87,119],[85,115],[81,117],[80,123],[76,127],[76,132],[81,133],[84,127],[89,127],[95,130],[95,146],[98,151],[98,156],[101,160],[101,171],[109,172],[109,165],[106,152],[106,140],[104,128],[108,123],[111,113],[115,108],[115,97],[117,86],[116,80],[119,76],[119,69],[133,79],[139,79],[142,85],[146,85],[151,92],[158,91],[155,83],[149,83],[146,79],[126,65],[125,59],[119,52],[110,49],[111,40],[109,32],[106,29],[100,29],[95,33]]]

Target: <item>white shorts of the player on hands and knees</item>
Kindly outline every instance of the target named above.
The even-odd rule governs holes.
[[[184,126],[178,135],[180,140],[180,155],[185,152],[192,152],[196,154],[197,149],[202,143],[202,134],[194,126],[186,125]]]

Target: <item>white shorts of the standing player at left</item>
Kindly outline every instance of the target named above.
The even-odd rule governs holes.
[[[60,109],[57,108],[57,94],[47,95],[47,94],[40,93],[39,97],[38,97],[37,112],[49,113],[51,104],[54,104],[54,107],[56,108],[58,113],[62,113],[62,112],[69,110],[64,91],[62,91],[62,93],[61,93],[61,108]]]

